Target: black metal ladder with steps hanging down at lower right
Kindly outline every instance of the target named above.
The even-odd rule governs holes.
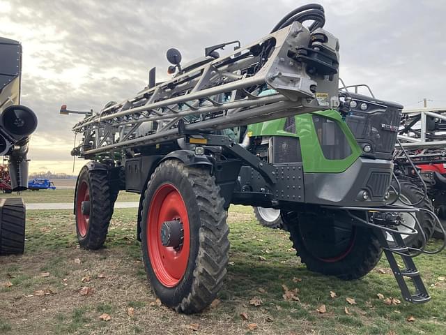
[[[424,283],[420,276],[420,272],[413,262],[413,258],[409,255],[409,249],[406,246],[406,243],[403,241],[403,238],[401,237],[401,234],[399,232],[389,232],[389,234],[392,235],[394,240],[394,245],[392,244],[392,246],[390,246],[389,242],[386,239],[385,230],[380,230],[379,232],[377,232],[378,239],[385,253],[385,257],[387,257],[387,261],[390,264],[392,273],[394,274],[395,279],[397,279],[397,283],[401,290],[401,294],[403,295],[403,299],[413,304],[424,304],[425,302],[431,300],[431,296],[424,286]],[[405,269],[400,269],[394,256],[395,253],[401,256],[401,259],[404,262],[404,266],[406,267]],[[413,285],[415,286],[414,293],[410,292],[405,277],[410,278]]]

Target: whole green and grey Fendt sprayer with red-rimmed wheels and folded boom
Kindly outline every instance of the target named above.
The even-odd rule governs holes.
[[[155,83],[151,70],[146,89],[79,121],[73,130],[82,141],[72,155],[91,160],[77,179],[79,244],[102,247],[118,192],[141,194],[148,280],[164,304],[194,313],[222,287],[229,205],[272,207],[308,269],[360,278],[384,251],[403,298],[429,301],[412,258],[423,250],[406,246],[398,230],[401,213],[417,209],[387,205],[402,106],[370,99],[364,108],[339,94],[339,43],[324,23],[323,8],[307,5],[245,47],[206,47],[184,65],[171,49],[170,80]],[[220,57],[216,50],[233,43]],[[264,159],[261,136],[247,125],[280,118],[294,135],[271,136]],[[406,234],[424,236],[417,228]]]

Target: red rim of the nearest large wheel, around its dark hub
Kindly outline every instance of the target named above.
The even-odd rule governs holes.
[[[183,245],[178,248],[163,246],[162,224],[178,218],[183,223]],[[153,195],[146,221],[146,242],[155,276],[168,288],[177,285],[189,260],[190,228],[185,202],[174,185],[163,184]]]

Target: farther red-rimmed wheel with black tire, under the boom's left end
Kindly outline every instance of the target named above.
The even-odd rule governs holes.
[[[79,172],[76,186],[75,216],[77,240],[82,248],[98,249],[104,246],[112,217],[112,206],[107,171]],[[82,214],[82,202],[89,201],[89,210]]]

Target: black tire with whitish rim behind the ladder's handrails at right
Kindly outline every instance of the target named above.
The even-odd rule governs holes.
[[[420,204],[416,204],[414,207],[419,208],[419,209],[427,209],[429,211],[433,211],[433,206],[431,203],[431,200],[429,200],[429,198],[426,196],[424,197],[424,192],[422,191],[422,189],[417,186],[416,184],[413,184],[413,182],[411,182],[410,180],[399,180],[399,184],[401,186],[401,200],[403,200],[403,202],[396,202],[395,204],[399,204],[401,206],[407,206],[407,204],[416,204],[417,202],[420,202],[420,200],[422,200],[420,202]],[[392,181],[392,186],[398,191],[398,184],[396,181]],[[391,196],[392,199],[392,196]],[[404,203],[406,202],[406,204]],[[410,216],[410,214],[402,214],[403,218],[406,218],[406,223],[410,223],[413,222],[414,228],[416,230],[420,230],[416,225],[415,225],[415,221],[413,220],[413,218]],[[433,228],[435,226],[435,219],[433,218],[433,216],[431,214],[429,214],[426,211],[418,211],[415,214],[418,223],[420,223],[421,228],[424,232],[424,236],[426,238],[426,241],[429,240],[433,234]],[[409,224],[411,225],[411,224]],[[403,228],[402,226],[400,226],[400,229]],[[406,246],[409,246],[411,248],[421,248],[424,244],[424,238],[422,236],[422,234],[419,232],[416,235],[406,235],[406,234],[402,234],[401,235],[403,237],[404,242],[406,243]],[[389,235],[387,235],[387,237],[389,237]],[[392,244],[392,243],[390,243]]]

